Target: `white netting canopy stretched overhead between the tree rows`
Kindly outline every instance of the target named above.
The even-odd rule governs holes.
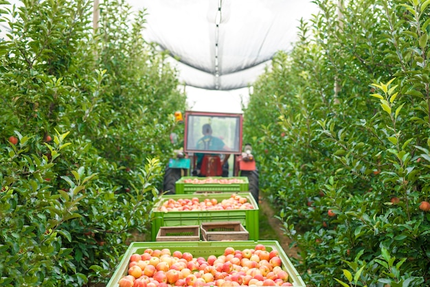
[[[267,61],[296,40],[307,0],[130,0],[146,8],[146,41],[177,59],[186,85],[210,90],[247,87]]]

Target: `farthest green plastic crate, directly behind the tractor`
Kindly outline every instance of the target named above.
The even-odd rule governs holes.
[[[194,192],[247,192],[249,181],[247,176],[221,177],[211,176],[211,179],[242,179],[243,183],[184,183],[185,179],[205,179],[198,176],[183,176],[175,184],[176,194],[194,194]]]

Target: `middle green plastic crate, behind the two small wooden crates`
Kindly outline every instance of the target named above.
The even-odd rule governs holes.
[[[160,227],[201,225],[202,222],[238,221],[249,232],[250,240],[258,240],[258,204],[250,192],[238,192],[238,195],[247,198],[253,209],[229,209],[229,210],[192,210],[192,211],[157,211],[163,202],[170,198],[216,198],[218,203],[223,199],[230,198],[231,194],[170,194],[161,196],[159,202],[152,207],[151,211],[151,240],[155,241]]]

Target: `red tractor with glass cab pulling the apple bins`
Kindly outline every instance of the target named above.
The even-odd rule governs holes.
[[[242,122],[241,114],[185,112],[183,149],[169,161],[163,190],[174,194],[182,176],[247,176],[258,202],[258,171],[251,145],[242,150]]]

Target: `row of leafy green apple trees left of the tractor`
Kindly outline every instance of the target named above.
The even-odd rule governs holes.
[[[1,286],[106,283],[148,233],[185,95],[144,11],[105,1],[94,32],[92,9],[1,2]]]

